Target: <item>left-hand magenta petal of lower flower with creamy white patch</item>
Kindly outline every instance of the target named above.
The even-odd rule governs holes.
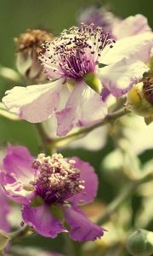
[[[34,181],[34,172],[31,164],[34,158],[25,147],[8,145],[7,154],[3,159],[1,183],[8,197],[20,204],[31,201],[33,193],[30,182]]]

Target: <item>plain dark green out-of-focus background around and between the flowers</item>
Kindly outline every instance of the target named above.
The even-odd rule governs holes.
[[[14,38],[27,28],[49,29],[58,34],[64,28],[77,24],[77,15],[83,8],[89,5],[105,5],[116,15],[127,17],[128,15],[145,15],[153,26],[153,3],[152,0],[0,0],[0,65],[15,68],[14,58]],[[0,78],[0,97],[10,84]],[[32,154],[39,152],[39,144],[35,130],[31,124],[25,121],[13,122],[0,117],[0,144],[1,147],[7,143],[22,144],[31,150]],[[109,182],[103,181],[100,162],[106,154],[113,150],[111,139],[98,152],[90,152],[83,149],[67,149],[66,156],[78,155],[82,160],[88,160],[99,172],[100,191],[99,200],[109,202],[114,196],[114,190]],[[153,151],[147,150],[140,155],[142,161],[150,159]],[[101,189],[102,188],[102,189]],[[141,203],[141,199],[135,195],[133,197],[134,207]],[[137,208],[135,207],[135,208]],[[63,240],[61,236],[54,241],[38,236],[26,239],[25,244],[39,245],[39,247],[60,251]]]

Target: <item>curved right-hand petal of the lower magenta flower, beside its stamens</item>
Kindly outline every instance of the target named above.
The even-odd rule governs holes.
[[[73,158],[76,161],[75,167],[81,171],[81,178],[84,180],[85,189],[77,195],[69,198],[69,201],[75,205],[83,205],[94,200],[98,189],[98,177],[94,172],[94,167],[88,162],[84,162],[77,157]]]

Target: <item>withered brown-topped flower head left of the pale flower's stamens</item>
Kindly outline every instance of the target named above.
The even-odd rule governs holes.
[[[15,38],[16,66],[19,73],[30,82],[45,82],[46,76],[42,73],[42,67],[37,59],[40,46],[45,41],[53,40],[52,33],[41,30],[27,30]]]

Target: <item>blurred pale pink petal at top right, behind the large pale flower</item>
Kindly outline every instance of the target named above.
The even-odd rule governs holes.
[[[150,32],[148,20],[144,15],[129,16],[113,27],[112,34],[117,39],[127,38],[144,32]]]

